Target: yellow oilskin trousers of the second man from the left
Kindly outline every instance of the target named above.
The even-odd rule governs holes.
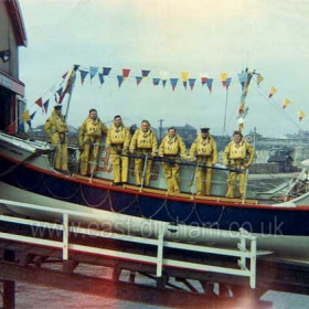
[[[81,153],[81,174],[87,175],[96,171],[99,157],[100,136],[87,136],[84,141],[84,149]],[[94,145],[95,143],[95,145]]]

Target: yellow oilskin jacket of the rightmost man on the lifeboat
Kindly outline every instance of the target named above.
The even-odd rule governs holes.
[[[223,163],[227,166],[231,160],[244,160],[251,166],[254,160],[254,148],[245,139],[242,139],[239,143],[232,140],[224,150]]]

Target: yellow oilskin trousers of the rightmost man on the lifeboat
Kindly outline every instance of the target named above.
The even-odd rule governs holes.
[[[233,160],[230,164],[231,170],[239,170],[237,172],[230,172],[228,180],[227,180],[227,192],[226,198],[234,199],[236,194],[237,188],[237,177],[239,175],[239,196],[241,199],[245,198],[245,183],[246,183],[246,170],[244,169],[244,160],[237,159]]]

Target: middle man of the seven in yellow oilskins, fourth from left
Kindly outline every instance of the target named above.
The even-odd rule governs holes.
[[[151,130],[148,120],[142,120],[141,126],[134,134],[130,142],[130,153],[135,153],[136,157],[148,156],[147,167],[145,172],[143,184],[149,187],[151,177],[152,160],[151,157],[156,157],[158,142],[156,134]],[[150,159],[149,159],[150,157]],[[143,169],[143,158],[135,159],[135,177],[136,185],[141,184],[142,169]]]

